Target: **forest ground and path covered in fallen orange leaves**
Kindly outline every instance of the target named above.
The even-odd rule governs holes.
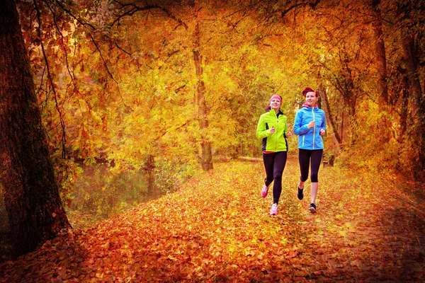
[[[261,162],[216,163],[177,192],[3,262],[0,282],[424,282],[424,187],[320,168],[310,214],[298,175],[290,156],[271,216]]]

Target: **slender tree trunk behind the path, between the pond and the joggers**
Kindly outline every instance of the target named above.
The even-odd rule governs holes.
[[[200,30],[199,30],[199,20],[198,20],[198,11],[196,11],[196,27],[194,37],[194,47],[193,47],[193,61],[195,62],[196,67],[196,94],[198,101],[198,119],[200,127],[200,146],[201,146],[201,156],[200,163],[203,170],[208,171],[212,169],[212,152],[211,152],[211,142],[208,141],[208,138],[205,137],[205,130],[208,129],[208,116],[207,116],[207,103],[205,101],[205,83],[203,81],[203,68],[202,68],[202,56],[200,55]]]

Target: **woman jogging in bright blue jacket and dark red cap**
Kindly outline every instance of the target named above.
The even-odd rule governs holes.
[[[311,163],[311,181],[312,181],[312,202],[310,212],[316,212],[316,197],[319,188],[320,163],[323,154],[322,136],[326,133],[326,120],[322,109],[317,108],[317,99],[319,93],[312,88],[305,88],[302,91],[305,96],[305,103],[297,111],[294,122],[294,134],[298,136],[298,159],[300,161],[300,183],[298,184],[298,199],[304,197],[304,183],[308,178],[308,170]]]

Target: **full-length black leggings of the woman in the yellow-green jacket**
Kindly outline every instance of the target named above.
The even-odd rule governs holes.
[[[273,182],[273,203],[278,203],[282,193],[282,173],[285,169],[287,151],[278,151],[273,154],[263,154],[264,168],[266,168],[266,186]]]

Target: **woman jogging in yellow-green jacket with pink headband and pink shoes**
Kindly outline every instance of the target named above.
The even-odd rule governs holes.
[[[266,169],[261,197],[267,196],[268,187],[274,180],[271,215],[278,214],[278,202],[282,193],[282,173],[288,156],[286,137],[292,136],[292,133],[288,132],[288,118],[280,111],[280,105],[282,105],[282,98],[278,95],[271,96],[266,113],[260,116],[256,129],[256,136],[263,139],[263,163]]]

